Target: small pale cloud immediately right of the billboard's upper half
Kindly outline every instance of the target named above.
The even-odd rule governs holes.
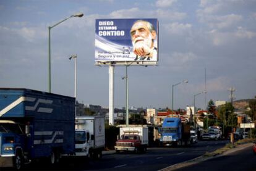
[[[169,23],[164,25],[164,28],[168,31],[171,35],[184,35],[185,33],[189,33],[192,25],[189,23]]]

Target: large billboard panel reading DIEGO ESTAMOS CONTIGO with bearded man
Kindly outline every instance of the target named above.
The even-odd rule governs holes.
[[[96,19],[95,63],[111,65],[158,62],[157,19]]]

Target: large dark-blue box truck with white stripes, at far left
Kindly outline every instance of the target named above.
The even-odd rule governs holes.
[[[75,152],[75,98],[25,88],[0,88],[0,167],[22,169]]]

